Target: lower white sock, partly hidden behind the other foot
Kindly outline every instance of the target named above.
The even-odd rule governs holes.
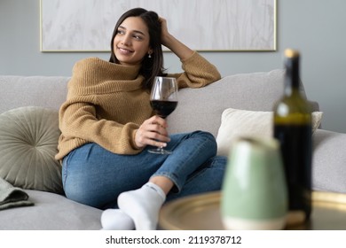
[[[102,230],[133,230],[135,223],[120,209],[109,208],[101,215]]]

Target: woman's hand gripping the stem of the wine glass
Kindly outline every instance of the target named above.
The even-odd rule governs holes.
[[[167,121],[157,115],[145,120],[136,132],[136,145],[139,148],[143,148],[146,145],[165,147],[170,141],[166,128]]]

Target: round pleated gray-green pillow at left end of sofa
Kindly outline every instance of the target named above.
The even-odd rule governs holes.
[[[26,106],[0,114],[0,176],[15,187],[62,193],[57,110]]]

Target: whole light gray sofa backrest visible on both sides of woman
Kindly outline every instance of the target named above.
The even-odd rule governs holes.
[[[169,115],[169,132],[201,129],[216,136],[226,108],[271,111],[282,95],[284,74],[283,69],[234,74],[201,89],[180,89],[177,109]],[[0,113],[28,105],[58,110],[66,100],[68,81],[59,76],[0,76]]]

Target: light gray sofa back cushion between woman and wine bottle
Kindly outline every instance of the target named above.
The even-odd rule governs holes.
[[[216,136],[227,108],[271,111],[283,93],[284,74],[281,69],[234,74],[201,89],[179,90],[177,109],[169,115],[170,133],[201,129]]]

